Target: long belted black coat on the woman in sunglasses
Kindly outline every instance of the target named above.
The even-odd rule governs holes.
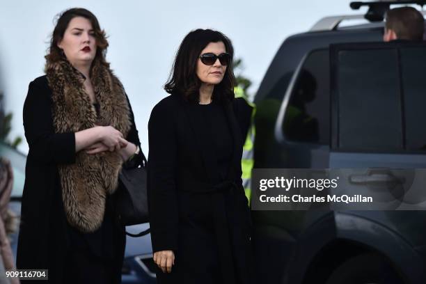
[[[170,95],[148,124],[148,194],[153,251],[173,250],[161,283],[251,283],[251,221],[242,187],[242,134],[224,104],[232,134],[230,171],[221,182],[210,129],[195,104]]]

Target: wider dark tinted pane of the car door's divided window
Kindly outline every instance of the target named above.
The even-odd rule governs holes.
[[[338,54],[338,145],[345,150],[402,148],[396,49]]]

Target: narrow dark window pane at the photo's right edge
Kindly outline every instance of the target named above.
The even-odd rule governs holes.
[[[426,150],[426,52],[401,49],[407,150]]]

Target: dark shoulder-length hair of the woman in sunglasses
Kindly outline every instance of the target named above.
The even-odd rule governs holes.
[[[189,102],[198,102],[201,81],[196,74],[200,53],[210,42],[223,42],[231,61],[226,67],[221,83],[214,86],[212,99],[216,102],[231,101],[234,98],[235,76],[232,70],[234,48],[229,38],[219,31],[196,29],[185,36],[176,54],[168,82],[164,90],[180,94]]]

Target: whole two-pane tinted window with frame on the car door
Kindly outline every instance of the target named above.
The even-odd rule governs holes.
[[[333,148],[426,150],[426,45],[331,47]],[[336,141],[334,141],[336,139]]]

